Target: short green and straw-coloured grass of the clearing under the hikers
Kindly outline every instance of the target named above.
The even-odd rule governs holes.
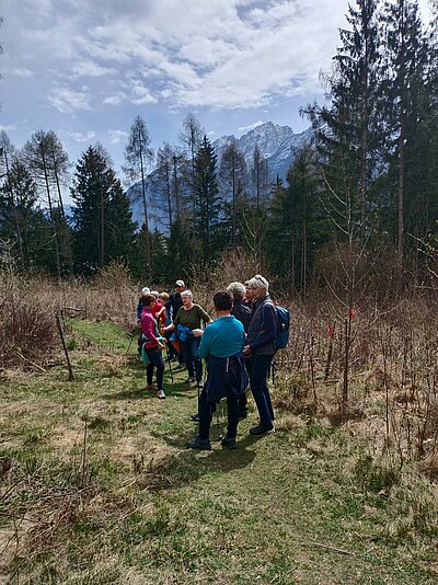
[[[136,340],[127,354],[111,323],[73,330],[73,382],[60,362],[1,386],[0,582],[437,582],[427,482],[403,483],[343,427],[287,412],[253,438],[253,411],[237,451],[189,451],[185,374],[166,375],[159,401]]]

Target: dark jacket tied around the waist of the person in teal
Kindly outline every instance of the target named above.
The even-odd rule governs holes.
[[[208,355],[207,368],[207,402],[219,402],[231,392],[240,395],[246,390],[249,382],[241,352],[230,357]]]

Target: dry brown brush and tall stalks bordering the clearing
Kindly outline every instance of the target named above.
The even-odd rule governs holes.
[[[222,264],[199,275],[191,285],[196,301],[211,314],[215,290],[231,280],[244,280],[257,269],[255,261],[239,253]],[[27,360],[32,366],[33,362],[47,360],[56,342],[56,312],[112,321],[126,331],[135,325],[138,287],[120,264],[101,271],[89,283],[2,274],[0,292],[3,368],[8,363],[23,365]],[[433,460],[438,451],[435,305],[427,297],[393,303],[378,303],[371,298],[357,301],[349,346],[348,404],[342,410],[347,310],[321,290],[313,291],[306,301],[291,300],[288,290],[273,292],[289,306],[292,317],[289,347],[279,352],[275,360],[277,404],[309,418],[326,417],[333,424],[378,416],[383,422],[383,440],[379,439],[379,444],[392,446],[401,457]],[[11,314],[15,326],[10,324]],[[333,340],[328,326],[334,328]],[[12,333],[8,331],[26,343],[20,345],[13,337],[11,344]],[[4,356],[9,346],[13,352],[8,362]],[[123,356],[115,360],[101,352],[99,367],[104,376],[119,377],[123,363]]]

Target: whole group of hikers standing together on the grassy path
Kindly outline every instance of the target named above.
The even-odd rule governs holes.
[[[177,360],[187,370],[186,383],[198,388],[198,411],[192,420],[199,423],[197,436],[187,441],[192,449],[210,449],[209,431],[216,404],[227,398],[228,425],[221,443],[237,448],[239,421],[247,416],[246,389],[250,386],[260,421],[251,435],[274,431],[274,409],[267,385],[273,357],[286,346],[289,311],[276,307],[269,284],[260,274],[243,285],[231,283],[214,297],[216,319],[193,300],[184,280],[176,280],[169,296],[145,287],[137,307],[141,326],[139,353],[147,364],[147,389],[165,399],[163,389],[166,349],[169,365]],[[204,325],[204,328],[203,328]],[[207,379],[203,383],[203,359]],[[155,370],[157,386],[152,383]],[[171,376],[173,380],[172,369]]]

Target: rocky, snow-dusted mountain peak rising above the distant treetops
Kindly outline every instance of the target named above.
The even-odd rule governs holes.
[[[253,130],[244,134],[240,138],[231,136],[222,136],[215,140],[212,146],[218,154],[218,161],[231,144],[235,142],[235,146],[245,157],[249,168],[253,162],[254,148],[258,145],[262,156],[267,159],[269,176],[275,179],[277,174],[285,179],[286,173],[293,162],[297,151],[302,148],[306,142],[309,142],[312,136],[311,128],[295,134],[289,126],[279,126],[272,122],[266,122],[256,126]]]

